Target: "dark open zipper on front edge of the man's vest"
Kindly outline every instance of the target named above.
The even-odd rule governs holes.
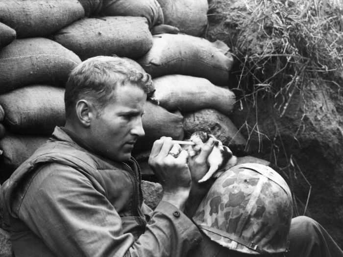
[[[134,163],[137,165],[138,167],[138,175],[137,176],[136,172],[131,168],[130,165],[125,164],[125,166],[130,170],[131,174],[133,175],[133,179],[134,179],[134,186],[135,186],[135,192],[134,192],[134,207],[133,207],[133,213],[138,214],[139,217],[139,221],[142,223],[142,225],[146,225],[146,218],[144,216],[144,214],[142,213],[142,204],[143,204],[143,193],[142,193],[142,188],[140,187],[140,181],[142,181],[142,172],[141,172],[141,167],[139,166],[139,164],[137,163],[136,159],[134,159],[133,157],[131,158]],[[142,197],[141,197],[142,196]],[[136,209],[135,209],[136,207]]]

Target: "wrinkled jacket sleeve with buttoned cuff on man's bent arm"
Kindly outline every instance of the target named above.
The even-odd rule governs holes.
[[[163,201],[137,240],[123,234],[118,212],[71,167],[46,165],[30,183],[19,217],[56,256],[181,257],[201,240],[193,222]]]

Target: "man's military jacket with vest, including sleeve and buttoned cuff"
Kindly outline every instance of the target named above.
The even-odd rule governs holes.
[[[139,166],[76,144],[61,128],[0,187],[16,257],[179,257],[201,235],[168,202],[150,210]]]

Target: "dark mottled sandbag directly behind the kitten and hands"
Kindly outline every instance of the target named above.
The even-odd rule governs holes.
[[[246,140],[229,117],[213,109],[203,109],[184,116],[186,138],[193,132],[202,130],[213,134],[224,145],[235,151],[243,151]]]

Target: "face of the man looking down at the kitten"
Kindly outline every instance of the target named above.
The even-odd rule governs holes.
[[[92,147],[108,159],[123,162],[130,159],[137,138],[145,135],[142,115],[147,94],[126,83],[116,88],[114,98],[92,120]]]

